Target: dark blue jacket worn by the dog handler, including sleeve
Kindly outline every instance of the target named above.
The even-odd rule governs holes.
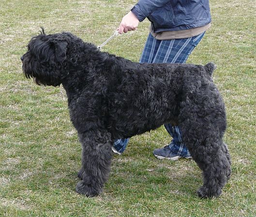
[[[154,32],[184,30],[211,23],[209,0],[139,0],[131,11],[140,22],[147,17]]]

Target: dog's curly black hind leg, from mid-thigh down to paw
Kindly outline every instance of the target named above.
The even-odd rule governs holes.
[[[195,116],[191,116],[195,122],[187,119],[181,123],[181,131],[185,145],[203,172],[204,183],[197,194],[203,198],[218,197],[231,173],[230,155],[222,141],[224,131]]]

